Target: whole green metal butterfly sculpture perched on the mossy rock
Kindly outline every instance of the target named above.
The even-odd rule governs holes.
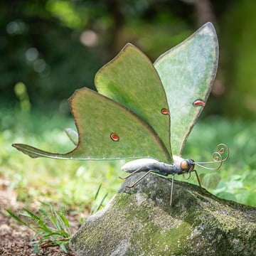
[[[127,44],[95,76],[99,93],[86,87],[70,98],[78,134],[66,132],[76,147],[55,154],[26,144],[14,144],[31,157],[55,159],[137,159],[123,171],[144,171],[172,176],[189,174],[198,163],[182,159],[188,134],[206,104],[218,66],[218,39],[206,23],[183,43],[161,55],[154,64],[139,49]],[[213,154],[218,169],[228,158],[220,144]],[[128,176],[127,176],[128,177]],[[126,178],[127,178],[126,177]],[[198,178],[198,174],[196,173]],[[137,182],[130,187],[135,186]],[[199,186],[201,183],[198,178]],[[203,190],[202,190],[203,191]]]

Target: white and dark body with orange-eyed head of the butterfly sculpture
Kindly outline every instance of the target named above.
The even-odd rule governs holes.
[[[168,176],[169,174],[186,174],[193,171],[195,164],[192,159],[183,159],[180,156],[173,156],[173,158],[174,164],[166,164],[156,159],[137,159],[129,161],[122,166],[122,171],[129,173],[152,171],[163,176]]]

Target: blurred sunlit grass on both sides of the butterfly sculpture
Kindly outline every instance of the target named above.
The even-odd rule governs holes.
[[[0,120],[0,177],[11,181],[9,189],[16,191],[18,200],[28,206],[36,199],[93,211],[106,194],[105,203],[118,191],[122,183],[118,176],[125,175],[120,171],[124,161],[31,159],[11,146],[26,143],[50,151],[73,149],[64,132],[66,127],[75,128],[71,117],[2,110]],[[217,144],[228,144],[230,157],[221,169],[197,168],[198,174],[205,184],[220,178],[217,188],[208,189],[216,195],[256,206],[255,137],[255,122],[228,121],[220,117],[203,119],[191,132],[183,157],[209,161]],[[195,182],[194,176],[189,182]],[[100,184],[100,194],[95,200]]]

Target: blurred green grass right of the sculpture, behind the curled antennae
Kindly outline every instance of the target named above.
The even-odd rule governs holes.
[[[230,156],[218,171],[214,171],[220,175],[220,183],[215,189],[208,190],[216,196],[256,206],[255,137],[256,122],[209,117],[194,127],[188,138],[184,156],[192,156],[195,161],[209,161],[210,154],[215,151],[217,144],[227,144]],[[201,176],[212,173],[197,169]]]

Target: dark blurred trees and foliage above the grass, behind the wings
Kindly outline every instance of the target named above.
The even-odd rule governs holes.
[[[94,88],[97,70],[130,42],[154,61],[212,21],[220,66],[209,114],[256,115],[253,0],[40,0],[0,3],[1,105],[18,103],[23,82],[32,107],[69,112],[66,99]],[[19,97],[19,96],[18,96]]]

